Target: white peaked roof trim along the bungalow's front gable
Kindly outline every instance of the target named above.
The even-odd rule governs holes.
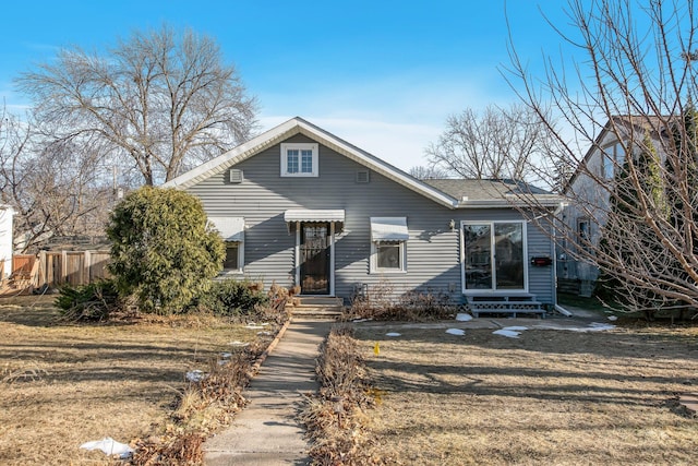
[[[299,117],[292,118],[278,127],[253,138],[244,144],[241,144],[218,157],[180,175],[179,177],[166,182],[163,187],[186,189],[214,175],[225,171],[233,165],[237,165],[273,145],[286,141],[296,134],[303,134],[320,144],[332,148],[338,154],[344,155],[345,157],[363,165],[364,167],[370,168],[371,170],[383,175],[384,177],[428,199],[431,199],[438,204],[449,208],[456,208],[458,206],[458,200],[452,198],[445,192],[413,178],[393,165],[381,160],[368,152],[360,150],[359,147]]]

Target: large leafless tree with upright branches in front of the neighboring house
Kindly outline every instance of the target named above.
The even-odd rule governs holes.
[[[616,279],[628,309],[697,307],[694,2],[570,0],[566,11],[575,27],[557,31],[582,58],[546,57],[545,75],[533,76],[513,44],[509,70],[562,147],[550,164],[577,167],[565,190],[573,210],[554,219],[558,239],[576,244],[567,252],[577,260]],[[562,119],[587,152],[555,130],[551,106],[555,123]],[[660,163],[648,169],[642,160],[652,153]],[[592,163],[594,154],[601,162]],[[595,231],[581,231],[574,222],[580,217]]]

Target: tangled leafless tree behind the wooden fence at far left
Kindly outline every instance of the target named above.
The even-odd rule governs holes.
[[[50,141],[5,110],[0,117],[0,202],[15,210],[19,248],[53,235],[101,235],[112,196],[100,178],[98,147]]]

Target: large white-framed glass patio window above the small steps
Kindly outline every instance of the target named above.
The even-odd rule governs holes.
[[[464,291],[526,290],[522,222],[464,223]]]

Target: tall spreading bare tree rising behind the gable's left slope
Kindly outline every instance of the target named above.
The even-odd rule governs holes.
[[[168,181],[246,140],[255,99],[216,41],[191,31],[135,32],[105,53],[72,47],[17,80],[41,130],[99,139],[146,184]]]

